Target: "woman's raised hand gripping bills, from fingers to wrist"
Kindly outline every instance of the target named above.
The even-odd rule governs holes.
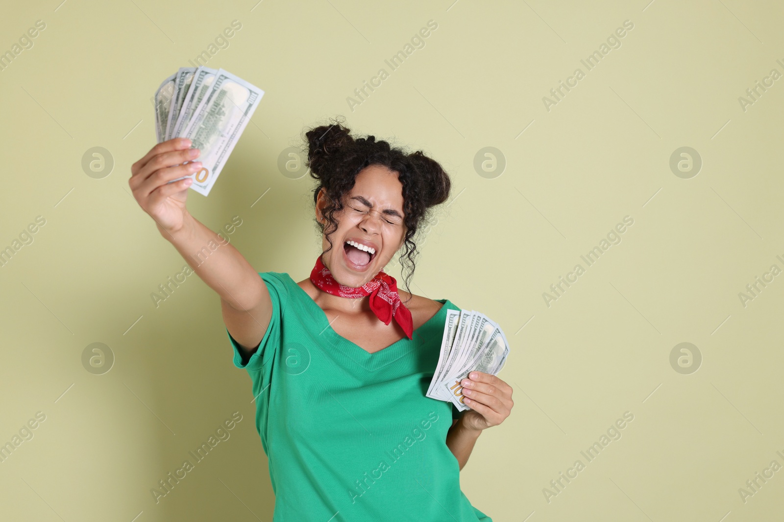
[[[173,138],[158,143],[142,159],[131,165],[128,185],[143,211],[158,223],[158,229],[177,232],[183,227],[187,209],[185,201],[192,178],[169,183],[172,179],[192,175],[201,162],[182,164],[198,157],[198,149],[190,149],[191,140]]]

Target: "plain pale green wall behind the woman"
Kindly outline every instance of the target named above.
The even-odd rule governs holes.
[[[784,465],[784,278],[745,308],[738,297],[784,268],[784,79],[739,104],[784,73],[781,2],[60,1],[9,2],[0,17],[2,52],[46,23],[0,72],[0,247],[46,219],[0,268],[0,444],[47,416],[0,463],[3,520],[271,518],[218,297],[191,276],[154,308],[184,261],[128,186],[154,145],[154,90],[232,20],[241,31],[207,65],[266,94],[212,193],[188,206],[214,230],[239,215],[231,241],[257,270],[304,279],[318,254],[313,182],[277,167],[306,126],[343,114],[452,175],[412,290],[485,312],[513,352],[500,374],[512,415],[461,473],[475,506],[498,522],[781,519],[784,470],[746,503],[738,491]],[[383,60],[431,19],[425,47],[390,71]],[[579,60],[624,20],[622,46],[586,71]],[[381,67],[390,77],[350,110]],[[543,96],[576,67],[586,77],[548,112]],[[94,146],[114,157],[103,179],[82,171]],[[474,171],[485,146],[506,157],[497,178]],[[694,178],[670,171],[681,146],[702,157]],[[622,243],[548,308],[542,293],[625,215]],[[101,376],[82,367],[93,342],[116,357]],[[702,353],[691,375],[670,366],[681,342]],[[230,439],[156,505],[150,489],[234,411]],[[622,438],[546,502],[626,411]]]

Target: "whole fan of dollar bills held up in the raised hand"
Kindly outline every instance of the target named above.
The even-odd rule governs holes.
[[[191,189],[207,196],[231,151],[259,106],[263,90],[230,72],[208,67],[181,67],[155,92],[158,142],[191,140],[202,167],[190,176]]]

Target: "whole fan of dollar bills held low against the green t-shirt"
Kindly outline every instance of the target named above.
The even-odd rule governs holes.
[[[426,396],[451,401],[461,412],[469,409],[463,402],[460,381],[473,371],[499,373],[507,355],[506,336],[487,315],[475,310],[448,310],[441,354]]]

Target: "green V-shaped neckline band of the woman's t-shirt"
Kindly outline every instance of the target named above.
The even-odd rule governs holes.
[[[324,310],[322,310],[321,307],[316,304],[316,301],[313,301],[313,298],[310,297],[310,295],[308,295],[308,293],[303,290],[294,279],[292,279],[291,275],[287,273],[286,276],[287,279],[289,279],[290,286],[295,287],[294,291],[301,293],[302,300],[307,301],[305,308],[310,311],[311,317],[313,317],[315,320],[318,328],[321,329],[321,333],[319,335],[326,336],[330,344],[343,353],[343,355],[346,355],[358,365],[370,371],[382,368],[383,366],[397,361],[397,359],[415,350],[419,341],[419,330],[426,329],[426,327],[429,327],[433,322],[445,320],[444,315],[449,309],[447,306],[449,303],[448,299],[434,300],[438,301],[439,303],[443,303],[441,308],[438,309],[433,317],[427,319],[426,322],[423,322],[419,328],[412,332],[411,339],[408,339],[408,337],[403,337],[402,339],[395,341],[394,343],[382,348],[379,351],[370,353],[369,351],[365,350],[365,348],[355,344],[353,341],[348,340],[346,337],[343,337],[334,329],[332,329],[332,325],[329,323]]]

